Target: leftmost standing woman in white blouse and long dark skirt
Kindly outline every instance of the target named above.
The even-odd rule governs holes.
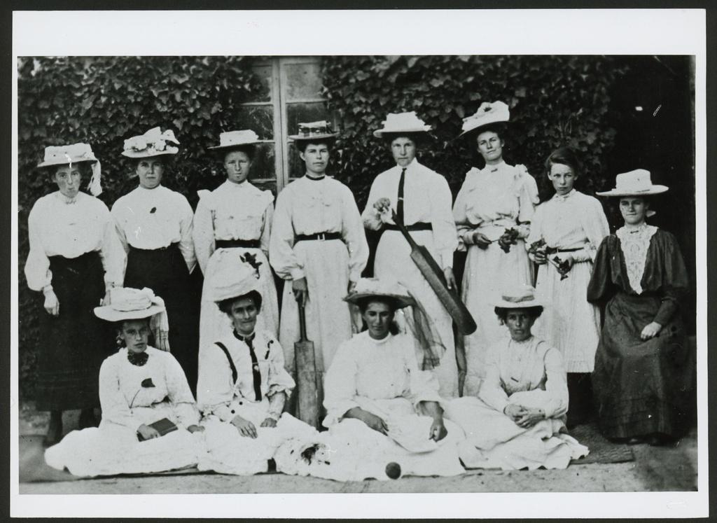
[[[27,286],[42,291],[37,410],[49,410],[45,446],[62,436],[62,411],[80,409],[80,428],[96,425],[98,376],[111,333],[95,318],[110,288],[120,286],[125,253],[107,206],[80,191],[82,176],[100,194],[100,162],[87,143],[50,146],[39,167],[57,191],[35,202],[28,217]]]

